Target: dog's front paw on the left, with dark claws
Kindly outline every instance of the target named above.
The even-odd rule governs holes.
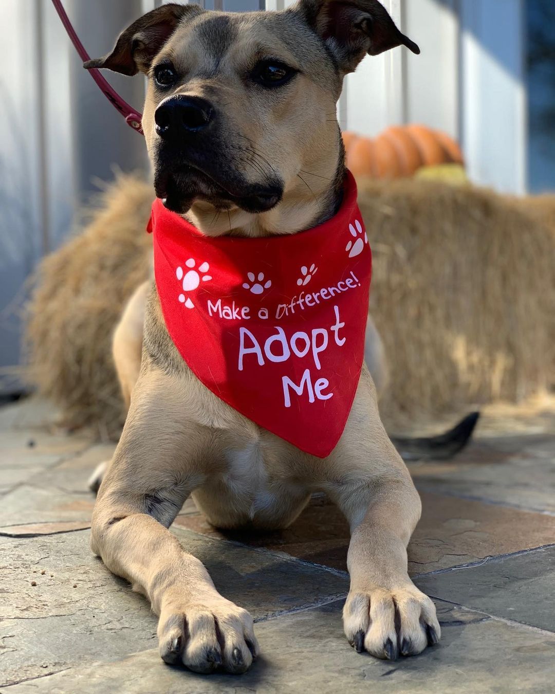
[[[221,596],[162,611],[158,638],[164,662],[194,672],[245,672],[259,650],[253,618]]]

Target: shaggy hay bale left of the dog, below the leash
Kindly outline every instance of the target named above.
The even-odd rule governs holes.
[[[42,261],[28,305],[28,379],[61,408],[65,425],[95,425],[103,438],[123,424],[112,332],[148,277],[152,200],[151,185],[120,176],[85,230]]]

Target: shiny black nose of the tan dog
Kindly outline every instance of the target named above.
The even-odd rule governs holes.
[[[154,120],[160,137],[180,137],[207,128],[213,120],[212,105],[200,96],[172,96],[158,106]]]

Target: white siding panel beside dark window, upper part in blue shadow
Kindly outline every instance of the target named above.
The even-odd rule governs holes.
[[[527,95],[523,0],[461,3],[461,140],[477,183],[524,193]]]

